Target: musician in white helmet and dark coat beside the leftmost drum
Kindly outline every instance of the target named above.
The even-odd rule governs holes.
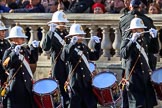
[[[25,45],[25,32],[20,26],[11,29],[9,39],[11,47],[5,51],[3,66],[8,71],[4,108],[35,108],[32,85],[33,74],[30,63],[38,60],[38,41]],[[2,95],[2,93],[1,93]]]

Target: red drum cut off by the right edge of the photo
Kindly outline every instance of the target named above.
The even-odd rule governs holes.
[[[151,81],[157,93],[157,98],[162,100],[162,68],[155,70],[151,75]]]

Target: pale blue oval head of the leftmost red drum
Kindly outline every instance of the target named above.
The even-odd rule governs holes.
[[[41,79],[33,85],[33,91],[38,94],[52,93],[57,88],[57,83],[53,79]]]

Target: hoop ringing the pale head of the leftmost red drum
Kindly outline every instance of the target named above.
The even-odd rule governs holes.
[[[43,79],[39,79],[39,80],[37,80],[34,84],[36,84],[36,83],[38,83],[38,82],[40,82],[40,81],[42,81],[42,80],[52,80],[52,81],[55,81],[54,79],[52,79],[52,78],[43,78]],[[56,81],[55,81],[56,82]],[[58,86],[56,87],[56,89],[55,90],[53,90],[52,92],[50,92],[50,93],[37,93],[37,92],[35,92],[33,89],[34,89],[34,84],[33,84],[33,88],[32,88],[32,91],[35,93],[35,94],[37,94],[37,95],[39,95],[39,96],[43,96],[43,95],[51,95],[51,94],[53,94],[53,93],[55,93],[56,92],[56,90],[58,89]],[[56,84],[58,85],[58,83],[56,82]]]

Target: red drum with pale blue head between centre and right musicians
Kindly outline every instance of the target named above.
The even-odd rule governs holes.
[[[117,79],[112,72],[100,72],[92,79],[93,92],[99,104],[109,106],[116,104],[121,97]]]

